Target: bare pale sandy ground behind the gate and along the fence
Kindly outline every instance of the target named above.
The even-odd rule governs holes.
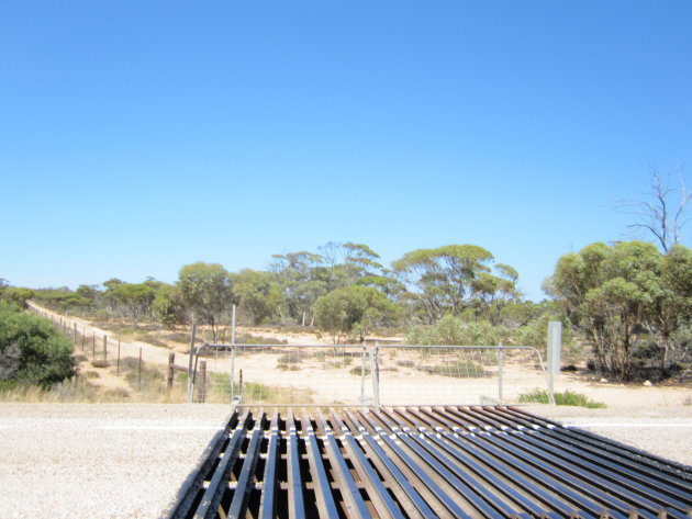
[[[76,317],[68,317],[56,314],[46,308],[32,304],[33,309],[38,314],[53,317],[56,320],[64,319],[68,323],[68,328],[76,324],[81,332],[96,335],[97,345],[101,345],[103,336],[108,336],[107,330],[91,326],[88,321]],[[342,362],[344,357],[334,348],[327,348],[330,342],[326,339],[316,339],[311,334],[290,332],[282,335],[266,328],[247,328],[243,332],[248,332],[263,337],[272,337],[279,340],[287,340],[289,345],[322,345],[325,348],[321,351],[333,354],[328,362]],[[146,363],[158,364],[164,368],[168,363],[167,348],[156,347],[146,342],[121,341],[121,358],[137,358],[142,352],[142,358]],[[189,356],[186,353],[187,347],[178,347],[176,352],[176,364],[187,366]],[[278,350],[279,348],[277,348]],[[315,350],[317,351],[317,350]],[[356,351],[356,350],[354,350]],[[382,402],[391,405],[397,404],[479,404],[485,397],[498,398],[499,388],[496,377],[469,377],[451,379],[426,374],[414,368],[398,365],[397,361],[409,360],[417,365],[422,362],[420,357],[413,352],[399,352],[395,359],[389,359],[387,349],[382,348],[382,372],[380,373],[380,393]],[[109,353],[113,354],[113,353]],[[300,404],[321,404],[330,402],[341,402],[345,404],[357,404],[357,398],[361,393],[368,397],[372,395],[372,386],[369,381],[367,387],[362,388],[359,376],[350,373],[350,370],[359,365],[359,360],[353,360],[339,369],[325,365],[324,362],[305,361],[300,364],[297,371],[286,371],[277,369],[280,354],[239,354],[234,361],[236,372],[243,370],[244,380],[247,382],[261,383],[269,386],[291,387],[300,392],[301,395],[312,394],[312,402],[300,402]],[[112,357],[111,357],[112,358]],[[207,360],[208,370],[219,373],[230,373],[232,361],[228,356],[210,357]],[[392,371],[388,371],[391,369]],[[91,380],[90,383],[101,385],[107,388],[126,388],[122,379],[113,375],[112,370],[99,371],[99,379]],[[546,387],[545,376],[535,370],[526,369],[526,360],[516,365],[507,362],[505,366],[503,398],[504,402],[516,402],[520,394],[534,388]],[[560,373],[556,380],[556,391],[572,391],[581,393],[590,398],[606,404],[609,408],[620,407],[659,407],[659,406],[683,406],[692,405],[692,390],[683,387],[668,387],[658,384],[651,386],[624,385],[612,382],[599,382],[590,380],[581,374]],[[322,395],[328,395],[328,400],[324,402]]]

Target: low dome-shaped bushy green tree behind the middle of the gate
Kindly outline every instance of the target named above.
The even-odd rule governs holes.
[[[348,335],[357,335],[364,341],[372,327],[394,323],[400,309],[380,291],[353,285],[320,297],[315,314],[320,329],[327,331],[337,345]]]

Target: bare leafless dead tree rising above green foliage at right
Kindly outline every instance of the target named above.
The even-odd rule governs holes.
[[[681,232],[690,221],[685,218],[687,205],[691,193],[688,192],[683,177],[683,167],[679,166],[668,173],[666,182],[654,166],[649,166],[651,185],[645,200],[625,200],[618,203],[618,211],[636,217],[627,228],[630,234],[645,230],[654,235],[663,252],[679,244]],[[680,188],[670,187],[670,178],[677,174]]]

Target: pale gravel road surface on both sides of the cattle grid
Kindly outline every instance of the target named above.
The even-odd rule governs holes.
[[[692,406],[527,410],[692,463]],[[228,413],[226,405],[0,404],[0,517],[161,517]]]

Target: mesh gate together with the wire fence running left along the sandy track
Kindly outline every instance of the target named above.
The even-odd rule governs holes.
[[[76,357],[145,400],[295,406],[514,404],[547,390],[540,353],[522,346],[198,345],[165,348],[113,340],[102,330],[52,318]],[[97,382],[97,381],[92,381]]]

